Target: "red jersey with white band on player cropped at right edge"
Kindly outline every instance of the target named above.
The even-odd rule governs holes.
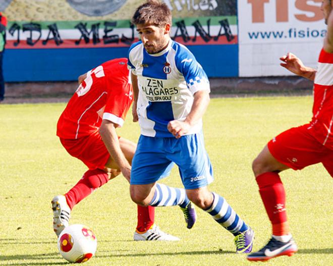
[[[313,117],[309,130],[324,146],[333,149],[333,54],[321,49],[313,86]]]

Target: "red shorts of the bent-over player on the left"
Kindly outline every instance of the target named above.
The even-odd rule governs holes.
[[[98,130],[79,139],[63,139],[60,142],[73,157],[80,159],[90,170],[103,169],[110,154]]]

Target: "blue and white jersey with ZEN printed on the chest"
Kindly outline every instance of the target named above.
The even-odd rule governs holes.
[[[138,78],[137,113],[141,134],[148,137],[173,137],[169,121],[184,121],[190,113],[194,93],[210,91],[209,81],[193,54],[173,40],[158,54],[150,55],[141,41],[129,50],[129,68]],[[189,134],[199,133],[200,120]]]

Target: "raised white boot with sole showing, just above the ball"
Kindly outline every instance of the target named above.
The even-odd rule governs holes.
[[[59,236],[65,227],[69,225],[71,208],[68,206],[64,195],[55,196],[51,204],[53,210],[53,231]]]

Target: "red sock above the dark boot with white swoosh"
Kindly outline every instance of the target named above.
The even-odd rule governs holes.
[[[273,235],[289,234],[286,192],[279,174],[267,172],[257,176],[256,180],[268,218],[272,223]]]

